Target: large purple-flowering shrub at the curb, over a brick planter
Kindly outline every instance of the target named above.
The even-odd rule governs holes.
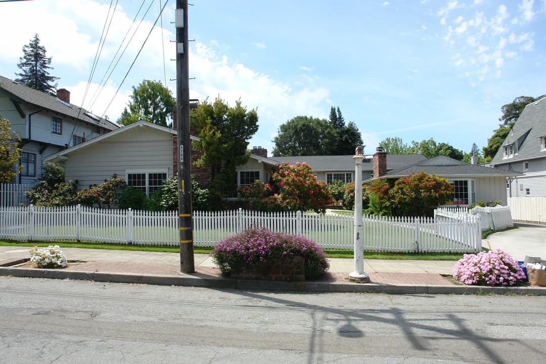
[[[307,279],[322,275],[330,267],[326,254],[314,241],[256,226],[219,242],[210,255],[224,275],[231,271],[266,271],[286,256],[305,259]]]

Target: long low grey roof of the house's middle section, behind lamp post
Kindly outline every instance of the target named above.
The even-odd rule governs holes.
[[[373,170],[373,156],[368,154],[362,160],[363,170]],[[269,159],[276,161],[277,164],[288,163],[294,165],[296,163],[307,163],[313,169],[313,172],[318,171],[353,171],[354,159],[353,155],[348,156],[296,156],[296,157],[270,157]],[[400,168],[401,166],[413,164],[424,160],[422,154],[387,154],[387,170]]]

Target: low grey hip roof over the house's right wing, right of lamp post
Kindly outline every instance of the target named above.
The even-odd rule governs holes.
[[[401,178],[417,172],[425,172],[429,175],[437,175],[444,178],[488,176],[512,177],[523,175],[520,172],[508,171],[500,168],[484,167],[462,162],[461,160],[456,160],[446,156],[437,156],[391,170],[386,175],[379,178],[368,178],[366,181],[378,180],[380,178]]]

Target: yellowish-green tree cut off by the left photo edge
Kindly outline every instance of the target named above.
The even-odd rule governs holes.
[[[0,183],[8,183],[23,168],[22,165],[17,167],[21,158],[21,149],[17,148],[20,141],[9,121],[0,115]]]

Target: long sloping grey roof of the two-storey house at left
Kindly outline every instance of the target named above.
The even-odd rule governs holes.
[[[68,104],[55,96],[27,87],[3,76],[0,76],[0,93],[8,96],[13,102],[25,106],[33,105],[36,108],[48,110],[55,114],[92,124],[93,126],[99,126],[107,130],[116,130],[121,127],[79,106]]]

